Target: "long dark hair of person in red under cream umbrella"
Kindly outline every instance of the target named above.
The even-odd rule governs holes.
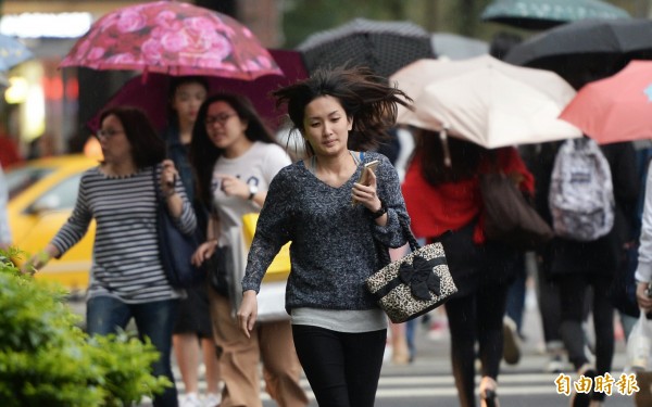
[[[416,129],[416,149],[421,152],[422,171],[431,186],[443,182],[459,182],[473,178],[487,150],[468,141],[448,137],[451,166],[444,164],[443,142],[439,132]]]

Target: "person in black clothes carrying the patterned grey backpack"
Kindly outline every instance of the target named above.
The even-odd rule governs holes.
[[[601,145],[612,173],[615,198],[615,218],[612,230],[594,241],[580,242],[555,238],[550,246],[550,274],[559,284],[561,301],[560,332],[568,352],[568,359],[579,374],[603,376],[612,367],[614,355],[614,307],[610,289],[617,272],[624,272],[622,258],[631,232],[625,208],[636,203],[639,181],[636,154],[630,142]],[[595,330],[595,366],[585,354],[586,335],[582,330],[587,290],[592,289]],[[573,406],[601,403],[604,393],[574,394]]]

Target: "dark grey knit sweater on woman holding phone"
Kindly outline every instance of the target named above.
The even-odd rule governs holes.
[[[363,205],[351,205],[355,174],[339,188],[322,182],[302,162],[281,169],[272,180],[249,252],[242,290],[259,291],[265,270],[280,247],[291,241],[291,272],[286,309],[371,309],[377,307],[364,281],[381,267],[376,244],[405,244],[399,216],[410,218],[394,167],[386,156],[366,153],[364,162],[380,160],[377,193],[388,208],[385,227],[376,225]]]

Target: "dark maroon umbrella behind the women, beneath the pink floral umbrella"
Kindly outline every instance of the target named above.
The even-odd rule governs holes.
[[[278,127],[278,112],[274,100],[267,93],[278,87],[293,84],[308,77],[305,67],[298,51],[269,50],[274,60],[283,69],[284,76],[267,75],[254,80],[240,80],[208,76],[210,93],[230,92],[248,97],[259,114],[265,118],[272,128]],[[152,124],[162,129],[167,120],[167,89],[171,77],[162,74],[150,74],[143,82],[141,76],[129,79],[100,110],[116,105],[131,105],[142,109]],[[89,122],[91,130],[99,128],[100,112]]]

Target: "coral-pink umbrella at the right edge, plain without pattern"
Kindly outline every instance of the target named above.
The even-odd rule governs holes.
[[[617,74],[589,82],[560,118],[600,144],[652,139],[652,61],[631,61]]]

